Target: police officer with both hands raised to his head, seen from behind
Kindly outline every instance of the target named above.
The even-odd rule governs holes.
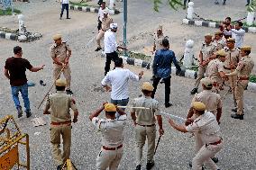
[[[105,118],[99,119],[98,115],[105,110]],[[115,112],[120,114],[115,118]],[[96,158],[96,169],[116,170],[123,157],[123,128],[126,114],[122,109],[116,108],[113,103],[104,103],[101,108],[89,116],[90,121],[102,133],[102,148]]]

